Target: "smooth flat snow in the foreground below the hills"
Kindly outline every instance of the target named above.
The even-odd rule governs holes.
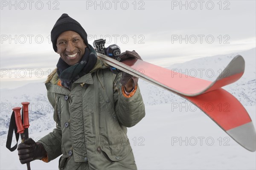
[[[247,106],[255,125],[255,106]],[[128,137],[140,170],[255,170],[256,153],[233,141],[203,112],[174,109],[170,104],[146,106],[145,118],[128,128]],[[51,130],[30,134],[35,140]],[[1,136],[1,170],[26,170],[17,150],[5,147]],[[12,159],[10,159],[12,158]],[[33,170],[57,170],[58,159],[49,163],[32,161]]]

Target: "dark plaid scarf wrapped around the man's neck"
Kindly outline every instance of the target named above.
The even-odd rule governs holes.
[[[96,51],[88,44],[80,62],[68,65],[61,57],[57,63],[57,73],[63,87],[71,90],[73,82],[89,73],[97,61]]]

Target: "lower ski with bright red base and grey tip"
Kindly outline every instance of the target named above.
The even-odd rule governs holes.
[[[194,97],[180,96],[196,105],[242,147],[256,150],[253,122],[235,96],[222,88]]]

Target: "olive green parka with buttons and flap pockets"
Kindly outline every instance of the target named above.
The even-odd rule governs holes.
[[[145,108],[138,86],[130,98],[122,94],[121,77],[98,58],[70,91],[57,84],[58,74],[52,72],[45,85],[56,128],[38,141],[47,161],[62,154],[59,169],[137,169],[126,127],[140,122]]]

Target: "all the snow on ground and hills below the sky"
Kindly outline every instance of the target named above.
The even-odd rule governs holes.
[[[246,62],[245,73],[237,82],[224,88],[244,105],[255,126],[255,48],[239,54]],[[205,57],[171,65],[169,68],[182,69],[183,72],[198,68],[212,69],[212,77],[207,74],[200,75],[200,72],[197,72],[197,76],[213,81],[218,70],[223,69],[235,55]],[[190,102],[148,82],[140,80],[139,83],[146,116],[139,124],[128,128],[128,137],[138,169],[256,169],[256,152],[241,147]],[[49,106],[43,83],[32,83],[12,90],[1,89],[1,170],[26,169],[26,165],[20,164],[17,150],[10,152],[5,146],[11,108],[24,101],[33,103],[29,112],[30,137],[37,141],[54,128],[52,108]],[[12,146],[15,144],[14,138],[13,141]],[[49,163],[32,161],[31,168],[57,170],[58,158]]]

